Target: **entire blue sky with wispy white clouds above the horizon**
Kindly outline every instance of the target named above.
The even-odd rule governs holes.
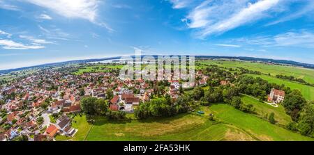
[[[312,0],[0,0],[0,70],[143,54],[314,64]]]

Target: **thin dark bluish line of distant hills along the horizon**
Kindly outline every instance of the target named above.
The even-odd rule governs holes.
[[[132,58],[135,58],[135,56],[131,56]],[[144,57],[144,56],[142,56]],[[154,55],[155,58],[157,58],[157,55]],[[68,65],[68,64],[78,64],[78,63],[92,63],[92,62],[98,62],[98,61],[104,61],[104,60],[115,60],[121,58],[120,56],[111,57],[111,58],[94,58],[94,59],[87,59],[87,60],[70,60],[65,61],[61,63],[47,63],[43,65],[35,65],[31,67],[20,67],[10,70],[0,70],[0,74],[7,74],[10,72],[16,72],[20,70],[30,70],[33,68],[40,68],[40,67],[57,67],[62,65]],[[283,65],[294,65],[298,67],[306,67],[314,69],[313,64],[308,63],[299,63],[297,61],[293,60],[276,60],[276,59],[269,59],[269,58],[253,58],[253,57],[246,57],[246,56],[195,56],[195,58],[209,58],[209,59],[232,59],[232,60],[248,60],[248,61],[260,61],[264,63],[276,63],[276,64],[283,64]]]

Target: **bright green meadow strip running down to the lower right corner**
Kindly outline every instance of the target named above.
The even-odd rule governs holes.
[[[314,140],[270,124],[254,115],[243,113],[227,104],[214,104],[210,110],[219,120],[239,127],[259,140]]]

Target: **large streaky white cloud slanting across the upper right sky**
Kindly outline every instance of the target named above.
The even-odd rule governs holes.
[[[225,33],[239,26],[244,26],[258,19],[267,17],[283,0],[207,0],[190,10],[183,22],[189,28],[195,28],[199,38]]]

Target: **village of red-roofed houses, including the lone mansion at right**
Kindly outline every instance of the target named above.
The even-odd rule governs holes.
[[[197,71],[195,85],[206,86],[209,76]],[[121,80],[117,72],[96,72],[80,75],[45,69],[1,87],[0,140],[54,140],[57,135],[72,137],[77,129],[71,127],[72,117],[81,113],[80,100],[96,97],[109,101],[110,111],[134,113],[139,104],[151,97],[169,95],[177,99],[181,80],[162,81]],[[232,84],[220,81],[220,85]],[[160,83],[159,83],[160,85]],[[195,85],[192,85],[193,87]],[[268,100],[283,101],[285,92],[271,90]],[[6,98],[4,98],[6,97]]]

